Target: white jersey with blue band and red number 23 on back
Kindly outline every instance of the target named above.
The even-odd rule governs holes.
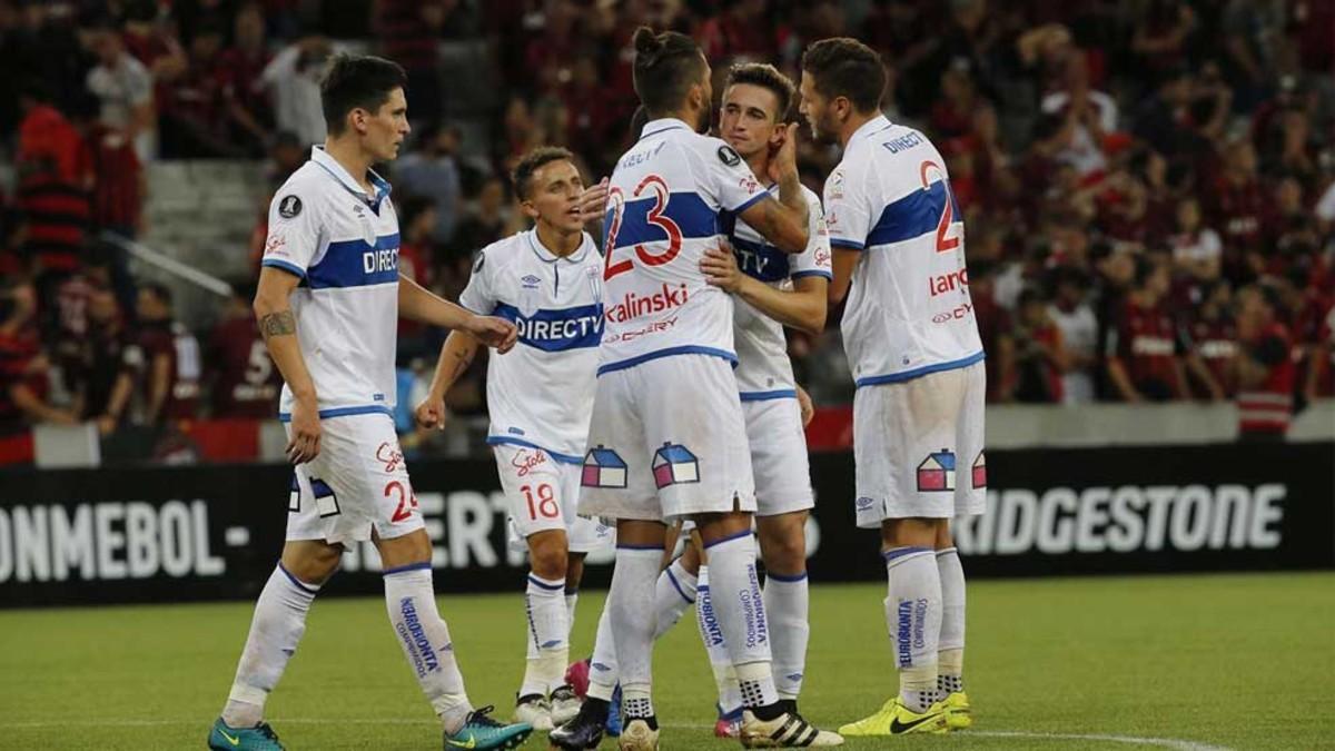
[[[720,211],[769,194],[730,146],[681,120],[641,132],[609,187],[598,373],[674,354],[736,362],[732,299],[705,283],[700,261],[722,237]]]

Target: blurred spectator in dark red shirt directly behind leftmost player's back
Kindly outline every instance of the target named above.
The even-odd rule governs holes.
[[[208,337],[210,404],[214,417],[272,418],[283,376],[255,323],[254,285],[234,285],[223,317]]]

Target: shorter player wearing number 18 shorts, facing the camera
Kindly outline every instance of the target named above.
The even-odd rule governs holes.
[[[513,184],[534,229],[483,249],[459,302],[519,331],[514,351],[487,369],[487,444],[510,502],[513,541],[527,547],[531,568],[529,660],[515,719],[551,730],[579,711],[563,675],[583,559],[613,537],[611,528],[575,516],[603,326],[602,257],[583,231],[585,186],[569,151],[530,151]],[[479,346],[465,331],[445,341],[430,394],[417,408],[421,425],[443,422],[445,394]]]

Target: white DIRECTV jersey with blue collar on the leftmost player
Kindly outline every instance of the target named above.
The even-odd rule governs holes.
[[[375,195],[315,147],[268,207],[262,263],[302,278],[291,305],[322,418],[394,409],[399,219],[390,184],[370,180]],[[284,384],[279,418],[291,410]]]

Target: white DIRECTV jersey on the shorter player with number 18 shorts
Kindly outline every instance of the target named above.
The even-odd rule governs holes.
[[[598,339],[602,337],[602,257],[586,234],[559,258],[534,230],[478,254],[459,303],[513,321],[519,341],[487,363],[487,442],[546,450],[583,462]]]

